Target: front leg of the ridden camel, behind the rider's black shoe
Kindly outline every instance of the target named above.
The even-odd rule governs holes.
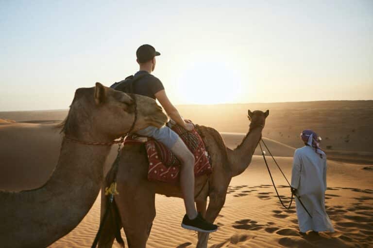
[[[205,217],[205,219],[210,223],[214,223],[224,205],[226,190],[222,192],[223,193],[213,191],[210,193],[210,202],[208,203]],[[209,233],[198,233],[198,242],[196,248],[207,248],[208,235]]]

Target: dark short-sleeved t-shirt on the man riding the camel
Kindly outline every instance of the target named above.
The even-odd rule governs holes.
[[[155,93],[164,90],[165,88],[163,87],[161,80],[154,77],[147,71],[138,71],[136,72],[134,77],[141,75],[143,73],[146,73],[148,75],[136,80],[136,82],[133,85],[133,91],[135,94],[145,95],[155,100]]]

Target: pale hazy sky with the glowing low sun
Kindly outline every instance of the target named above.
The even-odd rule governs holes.
[[[142,44],[175,105],[373,99],[372,0],[0,0],[0,111],[67,109]]]

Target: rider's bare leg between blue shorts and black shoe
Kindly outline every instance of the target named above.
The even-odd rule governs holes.
[[[189,219],[197,217],[194,205],[194,156],[186,147],[182,139],[178,139],[171,151],[181,162],[180,186],[183,192],[186,214]]]

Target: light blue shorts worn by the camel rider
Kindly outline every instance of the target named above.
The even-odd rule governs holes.
[[[179,139],[179,135],[168,126],[162,126],[161,128],[148,126],[147,128],[138,130],[136,133],[141,136],[152,137],[154,140],[162,142],[169,149],[171,149]]]

